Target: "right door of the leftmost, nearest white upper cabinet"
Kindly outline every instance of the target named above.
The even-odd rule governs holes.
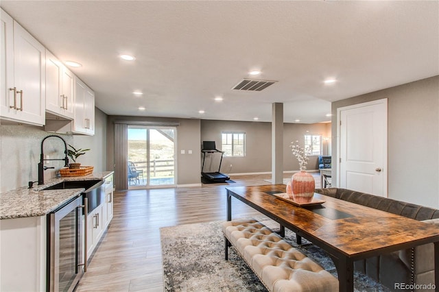
[[[18,90],[13,119],[45,123],[45,48],[14,21],[14,87]],[[10,91],[10,95],[13,92]]]

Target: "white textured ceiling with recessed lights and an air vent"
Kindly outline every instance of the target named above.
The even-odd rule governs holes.
[[[80,62],[71,70],[111,115],[271,121],[279,102],[285,122],[316,123],[331,119],[331,101],[439,75],[439,1],[0,5],[60,60]],[[277,82],[233,90],[243,78]]]

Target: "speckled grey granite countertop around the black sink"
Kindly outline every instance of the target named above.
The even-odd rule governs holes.
[[[0,193],[0,219],[13,219],[21,217],[38,217],[47,215],[56,210],[58,206],[78,197],[84,188],[67,188],[64,190],[43,191],[43,188],[67,180],[102,180],[113,171],[92,173],[84,176],[52,178],[45,184],[27,188],[23,186],[12,191]]]

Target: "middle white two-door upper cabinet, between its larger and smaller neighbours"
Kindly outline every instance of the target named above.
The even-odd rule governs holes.
[[[73,119],[74,82],[75,75],[46,50],[47,119]]]

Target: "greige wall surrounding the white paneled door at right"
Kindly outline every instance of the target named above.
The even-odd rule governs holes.
[[[439,208],[439,76],[333,102],[333,149],[337,108],[383,98],[388,98],[388,197]],[[333,182],[335,176],[333,165]]]

